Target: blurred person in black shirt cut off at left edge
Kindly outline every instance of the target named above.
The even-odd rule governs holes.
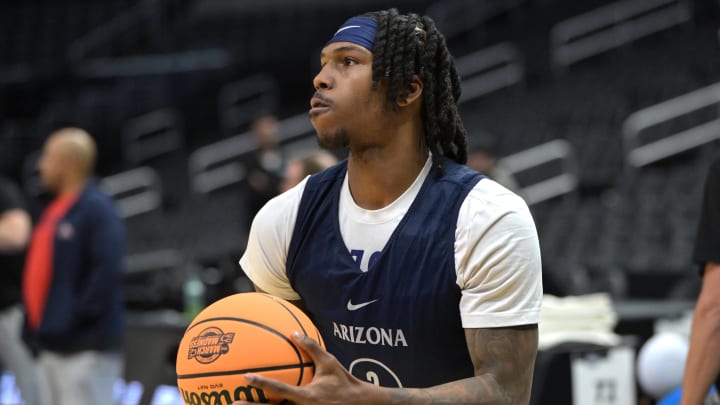
[[[37,371],[22,341],[22,271],[30,216],[20,190],[0,176],[0,369],[15,376],[26,405],[39,405]]]

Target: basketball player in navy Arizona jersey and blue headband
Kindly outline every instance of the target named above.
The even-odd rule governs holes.
[[[525,203],[462,165],[460,81],[428,17],[354,17],[323,48],[310,117],[347,161],[257,214],[240,264],[296,301],[327,345],[296,404],[523,404],[542,296]],[[243,402],[238,402],[243,404]]]

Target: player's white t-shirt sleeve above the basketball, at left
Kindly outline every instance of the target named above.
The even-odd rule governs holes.
[[[290,285],[285,262],[307,179],[258,211],[240,259],[240,267],[257,288],[290,301],[299,300],[300,295]]]

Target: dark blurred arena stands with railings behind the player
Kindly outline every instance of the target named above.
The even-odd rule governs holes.
[[[499,157],[531,207],[545,293],[607,294],[609,332],[633,359],[658,320],[692,310],[703,181],[720,155],[716,0],[2,0],[0,170],[37,216],[44,140],[85,128],[125,217],[118,403],[178,403],[186,280],[202,280],[206,303],[252,288],[237,264],[252,120],[277,115],[286,158],[317,148],[306,111],[320,48],[347,17],[390,6],[446,35],[469,143]],[[573,393],[578,364],[612,350],[541,349],[531,403],[590,404]],[[629,375],[631,402],[592,404],[656,403]]]

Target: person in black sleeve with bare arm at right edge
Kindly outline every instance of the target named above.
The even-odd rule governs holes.
[[[681,405],[701,405],[720,372],[720,158],[710,167],[693,259],[703,286],[695,307]]]

